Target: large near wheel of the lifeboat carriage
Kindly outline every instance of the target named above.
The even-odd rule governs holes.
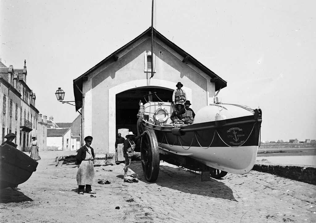
[[[158,141],[153,130],[143,132],[141,143],[141,159],[143,173],[148,182],[154,182],[159,174],[159,151]]]

